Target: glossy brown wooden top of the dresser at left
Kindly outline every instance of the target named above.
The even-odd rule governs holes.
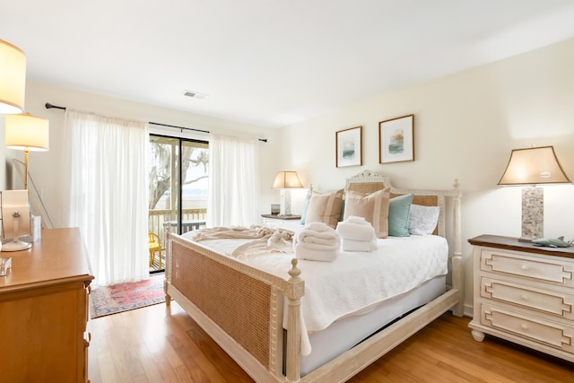
[[[1,252],[0,257],[12,257],[12,269],[0,276],[0,293],[93,279],[78,228],[43,230],[32,248]]]

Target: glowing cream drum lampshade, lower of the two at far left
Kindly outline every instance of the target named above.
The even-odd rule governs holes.
[[[47,119],[30,114],[5,117],[5,145],[12,149],[47,151],[49,149],[49,123]]]

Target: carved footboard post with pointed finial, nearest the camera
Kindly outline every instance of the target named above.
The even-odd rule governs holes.
[[[300,309],[301,297],[305,292],[305,283],[300,279],[301,271],[297,267],[297,258],[291,259],[291,270],[289,270],[288,289],[285,292],[288,305],[287,313],[287,381],[296,382],[300,380]]]

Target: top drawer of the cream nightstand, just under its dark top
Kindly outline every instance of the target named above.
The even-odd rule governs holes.
[[[483,249],[481,270],[574,287],[574,265],[554,260],[551,257],[517,256],[504,251]]]

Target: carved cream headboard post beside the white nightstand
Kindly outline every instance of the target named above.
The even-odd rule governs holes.
[[[464,267],[463,267],[463,257],[462,257],[462,232],[460,229],[460,198],[462,197],[462,192],[460,190],[460,184],[458,179],[455,179],[453,185],[455,187],[454,207],[453,207],[453,235],[454,235],[454,245],[453,256],[452,256],[452,287],[457,289],[460,297],[458,303],[452,308],[452,314],[457,317],[462,317],[464,314]]]

